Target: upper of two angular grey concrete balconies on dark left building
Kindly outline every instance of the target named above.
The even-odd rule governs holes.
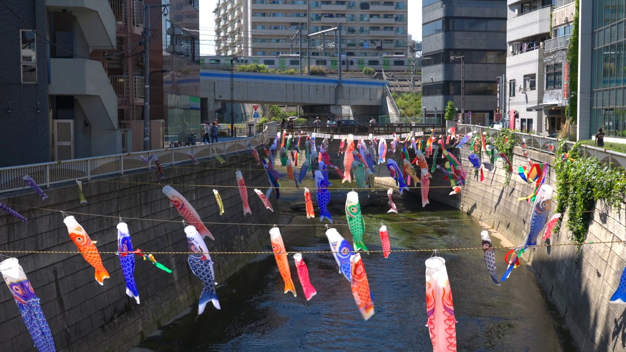
[[[90,51],[115,49],[115,15],[102,0],[46,0],[51,12],[71,11],[76,16]]]

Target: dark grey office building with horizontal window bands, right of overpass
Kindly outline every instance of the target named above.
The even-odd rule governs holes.
[[[426,116],[442,118],[448,101],[453,101],[459,113],[464,108],[464,122],[493,122],[496,79],[506,71],[506,11],[506,1],[423,1]]]

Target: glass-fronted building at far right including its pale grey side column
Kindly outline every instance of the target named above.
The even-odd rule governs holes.
[[[625,142],[626,64],[623,3],[580,1],[578,138],[605,130],[605,141]]]

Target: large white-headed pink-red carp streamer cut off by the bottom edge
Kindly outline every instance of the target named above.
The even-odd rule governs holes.
[[[446,261],[426,259],[426,314],[433,352],[456,352],[456,319]]]

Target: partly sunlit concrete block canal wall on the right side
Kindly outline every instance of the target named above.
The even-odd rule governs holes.
[[[468,161],[469,149],[463,148],[457,157],[468,169],[469,177],[461,194],[459,209],[503,235],[513,245],[522,244],[528,234],[531,205],[518,198],[526,197],[533,185],[522,183],[518,175],[511,177],[510,185],[503,188],[505,173],[501,162],[496,162],[495,172],[485,172],[485,182],[480,182]],[[554,157],[547,153],[528,151],[533,162],[553,165]],[[515,148],[512,160],[517,170],[528,162],[521,148]],[[546,183],[555,185],[556,173],[548,168]],[[432,192],[431,192],[432,193]],[[624,204],[626,205],[626,204]],[[587,241],[624,241],[626,234],[626,210],[616,210],[605,202],[598,202],[590,220]],[[552,211],[556,209],[553,199]],[[565,215],[564,221],[567,221]],[[542,232],[543,234],[543,232]],[[476,234],[479,236],[479,234]],[[493,239],[493,237],[492,237]],[[567,226],[563,223],[558,234],[552,235],[552,244],[570,243]],[[500,245],[495,241],[495,246]],[[543,243],[541,239],[540,243]],[[523,254],[523,259],[536,273],[546,295],[552,301],[572,333],[579,351],[626,351],[626,322],[622,320],[625,307],[609,303],[617,289],[626,262],[622,259],[626,246],[623,243],[592,244],[582,246],[539,247]],[[496,255],[498,273],[505,271],[503,257],[506,251]],[[515,275],[515,272],[512,273]],[[506,282],[502,285],[506,287]],[[515,287],[511,287],[515,289]]]

